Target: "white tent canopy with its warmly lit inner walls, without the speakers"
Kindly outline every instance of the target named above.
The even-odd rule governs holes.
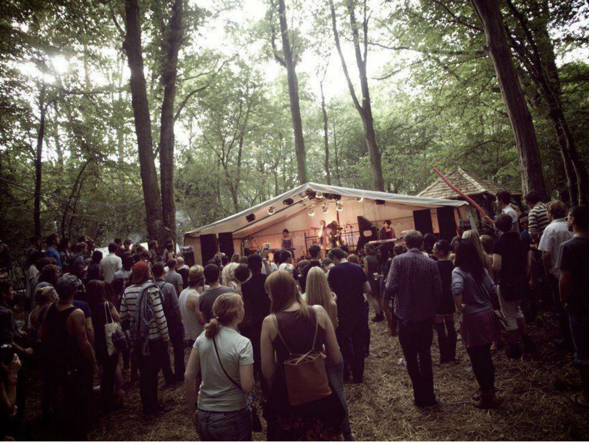
[[[334,198],[313,197],[317,192],[326,196],[338,196],[342,210],[336,210],[337,200]],[[284,204],[289,199],[292,199],[292,203]],[[376,203],[377,200],[379,204]],[[246,239],[250,248],[262,248],[264,244],[270,245],[272,249],[280,248],[282,230],[289,229],[295,255],[301,256],[306,254],[307,246],[312,243],[311,238],[316,237],[320,220],[325,220],[327,224],[336,220],[342,227],[347,225],[347,230],[356,231],[356,237],[349,236],[355,243],[358,236],[358,216],[365,217],[379,229],[383,220],[390,219],[392,227],[400,233],[414,228],[413,212],[430,209],[432,227],[436,233],[439,232],[436,209],[455,207],[458,224],[461,217],[459,209],[462,208],[461,212],[466,213],[465,206],[466,203],[462,201],[306,183],[235,215],[185,233],[184,246],[193,246],[195,261],[202,263],[200,238],[203,235],[230,232],[233,235],[234,249],[243,253],[243,240]],[[324,207],[326,212],[323,211]],[[309,216],[310,209],[315,211],[314,216]]]

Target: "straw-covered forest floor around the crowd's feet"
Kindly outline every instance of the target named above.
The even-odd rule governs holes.
[[[413,406],[411,381],[399,365],[403,354],[398,338],[391,337],[385,322],[370,322],[364,382],[345,385],[352,431],[358,440],[589,440],[589,411],[569,401],[580,378],[572,354],[562,354],[552,344],[555,326],[550,319],[530,326],[539,348],[535,357],[512,360],[504,351],[494,352],[496,386],[504,402],[488,411],[471,405],[477,383],[462,343],[458,341],[459,361],[440,365],[434,337],[435,392],[442,406],[422,411]],[[90,440],[198,440],[187,415],[183,385],[163,388],[160,376],[160,401],[170,411],[153,419],[141,414],[138,383],[126,379],[124,388],[125,407],[97,416]],[[24,434],[17,440],[59,439],[39,423],[38,392],[38,382],[33,382]],[[254,433],[254,440],[266,440],[265,434]]]

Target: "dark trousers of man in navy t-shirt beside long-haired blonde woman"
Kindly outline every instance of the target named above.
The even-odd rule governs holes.
[[[368,316],[359,314],[357,318],[340,321],[337,327],[336,336],[342,350],[344,380],[349,379],[350,370],[356,382],[361,382],[364,376],[366,324]]]

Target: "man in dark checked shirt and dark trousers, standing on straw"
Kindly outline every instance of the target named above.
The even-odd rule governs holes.
[[[421,408],[437,407],[431,347],[442,280],[435,261],[421,251],[421,232],[411,230],[404,239],[407,253],[393,258],[386,288],[395,298],[393,308],[399,318],[399,343],[413,384],[413,403]]]

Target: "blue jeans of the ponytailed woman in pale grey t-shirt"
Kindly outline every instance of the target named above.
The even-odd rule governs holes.
[[[200,440],[252,440],[252,410],[198,410],[196,432]]]

